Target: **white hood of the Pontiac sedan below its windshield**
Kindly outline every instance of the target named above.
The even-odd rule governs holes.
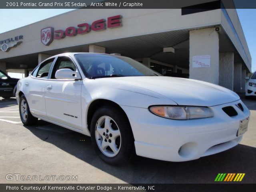
[[[215,106],[240,99],[236,93],[224,87],[186,78],[136,76],[102,78],[101,80],[122,84],[122,88],[125,84],[144,88],[165,96],[178,105]]]

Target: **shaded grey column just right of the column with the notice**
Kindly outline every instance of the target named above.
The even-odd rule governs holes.
[[[234,84],[234,53],[219,54],[219,85],[233,90]]]

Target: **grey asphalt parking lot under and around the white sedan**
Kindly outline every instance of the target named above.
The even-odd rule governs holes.
[[[110,166],[94,153],[90,137],[42,120],[23,126],[14,98],[0,98],[0,183],[214,183],[218,173],[245,173],[256,183],[256,99],[244,100],[251,112],[242,142],[225,152],[190,162],[134,157]],[[78,176],[78,180],[6,180],[6,174]]]

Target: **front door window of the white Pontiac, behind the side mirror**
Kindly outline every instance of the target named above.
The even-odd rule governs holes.
[[[76,71],[76,66],[70,60],[70,58],[68,58],[68,57],[58,57],[55,65],[54,65],[54,68],[52,70],[51,79],[56,79],[55,78],[55,73],[59,69],[71,69],[72,71]]]

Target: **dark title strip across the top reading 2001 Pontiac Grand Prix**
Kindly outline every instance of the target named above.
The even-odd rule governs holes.
[[[246,9],[256,0],[1,0],[0,9]]]

